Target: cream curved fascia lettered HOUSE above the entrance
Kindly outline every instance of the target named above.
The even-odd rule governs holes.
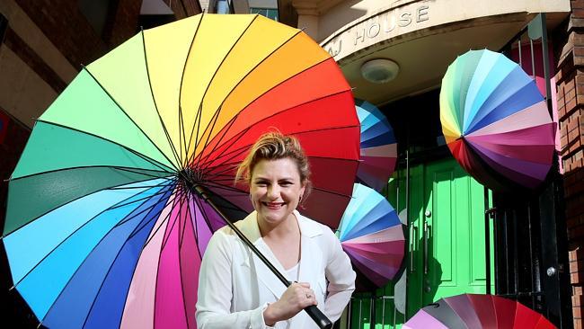
[[[332,52],[336,60],[340,60],[385,40],[451,22],[506,13],[570,12],[570,0],[403,0],[390,5],[385,2],[385,7],[379,4],[382,4],[379,0],[337,4],[332,10],[319,16],[318,41],[322,41],[323,48]],[[362,13],[361,17],[336,27],[343,23],[341,17],[352,17],[356,13]],[[340,22],[333,26],[332,21],[335,19]],[[300,17],[298,21],[300,22]],[[329,34],[333,28],[337,30]]]

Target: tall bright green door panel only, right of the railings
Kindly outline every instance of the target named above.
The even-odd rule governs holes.
[[[407,317],[439,298],[485,293],[482,185],[450,158],[411,168],[409,194]]]

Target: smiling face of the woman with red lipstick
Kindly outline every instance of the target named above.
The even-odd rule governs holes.
[[[250,194],[258,220],[270,226],[285,221],[305,192],[296,162],[290,158],[260,160],[253,167]]]

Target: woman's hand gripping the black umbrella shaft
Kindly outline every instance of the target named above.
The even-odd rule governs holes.
[[[266,325],[273,326],[279,321],[296,316],[305,307],[317,304],[314,291],[310,289],[310,283],[295,282],[284,291],[277,302],[270,304],[263,311],[263,319]]]

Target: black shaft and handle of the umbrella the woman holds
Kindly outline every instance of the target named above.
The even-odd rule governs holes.
[[[211,208],[213,208],[213,209],[215,209],[215,211],[217,211],[217,214],[219,214],[219,216],[221,216],[221,218],[223,218],[223,220],[226,222],[226,224],[229,227],[231,227],[231,229],[234,230],[235,234],[237,236],[239,236],[240,239],[242,239],[243,243],[245,245],[247,245],[248,247],[250,247],[250,249],[252,249],[252,252],[255,253],[261,259],[261,262],[266,264],[266,266],[268,266],[270,271],[272,271],[272,273],[274,273],[278,277],[278,279],[280,281],[282,281],[282,283],[284,283],[284,285],[288,288],[290,286],[291,282],[288,281],[288,279],[286,279],[286,277],[284,275],[282,275],[282,273],[280,273],[278,271],[278,269],[276,267],[274,267],[274,265],[271,264],[271,262],[266,258],[266,256],[264,256],[263,253],[261,253],[261,251],[258,248],[256,248],[255,245],[252,244],[250,239],[248,239],[247,236],[244,236],[242,231],[240,231],[239,228],[235,227],[234,223],[232,223],[223,214],[221,209],[219,209],[215,205],[215,203],[208,198],[208,194],[207,194],[207,191],[205,191],[205,188],[201,185],[194,185],[193,189],[200,195],[201,198],[203,198],[203,200],[205,200],[205,202],[208,203],[209,206],[211,206]],[[316,325],[318,325],[322,329],[331,329],[332,328],[331,320],[328,317],[324,316],[323,312],[321,312],[321,310],[318,309],[318,307],[315,307],[314,305],[312,305],[310,307],[305,307],[305,312],[308,314],[308,316],[310,316],[314,320]]]

